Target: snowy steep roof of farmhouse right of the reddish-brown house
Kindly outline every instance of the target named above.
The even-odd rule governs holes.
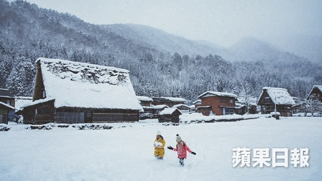
[[[287,92],[286,88],[277,88],[277,87],[263,87],[262,97],[264,91],[267,92],[274,104],[277,105],[295,105],[294,100]]]

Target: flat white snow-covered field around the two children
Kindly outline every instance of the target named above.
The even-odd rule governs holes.
[[[146,121],[148,122],[148,121]],[[25,129],[10,124],[0,132],[0,180],[320,180],[321,117],[261,117],[237,122],[165,126],[160,123],[115,123],[108,130],[53,127]],[[190,149],[185,166],[166,149],[153,156],[156,131],[166,146],[180,134]],[[308,148],[309,166],[236,167],[232,148]],[[289,156],[290,157],[290,156]],[[253,163],[253,162],[252,162]]]

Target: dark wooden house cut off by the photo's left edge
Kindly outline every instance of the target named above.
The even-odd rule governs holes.
[[[15,121],[15,99],[19,97],[6,88],[0,88],[0,123]]]

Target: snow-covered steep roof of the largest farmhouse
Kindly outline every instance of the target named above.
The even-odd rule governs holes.
[[[141,110],[129,71],[121,68],[38,58],[47,98],[59,107]]]

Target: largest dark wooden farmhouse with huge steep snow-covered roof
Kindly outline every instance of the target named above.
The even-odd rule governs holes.
[[[125,69],[38,58],[24,123],[135,122],[142,107]]]

